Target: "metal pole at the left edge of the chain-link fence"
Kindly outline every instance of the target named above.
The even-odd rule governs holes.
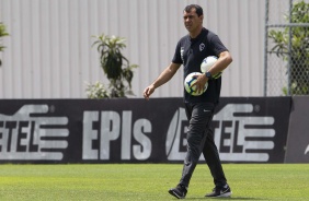
[[[265,0],[265,31],[264,31],[264,96],[267,96],[268,7],[270,7],[270,0]]]

